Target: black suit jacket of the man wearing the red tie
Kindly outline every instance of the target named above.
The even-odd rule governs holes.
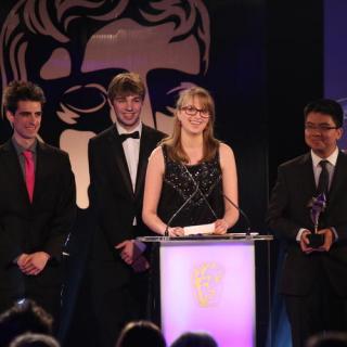
[[[65,152],[37,143],[33,204],[16,151],[9,140],[0,146],[0,288],[25,291],[26,281],[60,285],[60,260],[76,214],[75,179]],[[26,277],[13,260],[23,253],[51,255],[43,271]],[[33,285],[33,284],[31,284]]]

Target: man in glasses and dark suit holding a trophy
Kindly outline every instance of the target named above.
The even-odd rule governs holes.
[[[344,113],[324,99],[309,103],[304,114],[311,151],[279,167],[268,211],[269,226],[286,245],[280,291],[294,347],[314,333],[347,329],[347,155],[337,147]],[[313,245],[318,195],[326,206],[318,226],[323,243]]]

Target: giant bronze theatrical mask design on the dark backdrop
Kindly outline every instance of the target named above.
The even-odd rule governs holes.
[[[13,79],[43,88],[41,140],[69,153],[77,205],[87,208],[88,141],[115,119],[111,79],[139,73],[147,88],[142,120],[169,133],[180,90],[204,85],[209,15],[202,0],[22,0],[0,41],[2,88]]]

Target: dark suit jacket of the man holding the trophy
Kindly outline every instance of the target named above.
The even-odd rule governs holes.
[[[338,239],[329,253],[305,254],[296,235],[300,228],[313,230],[309,201],[316,195],[316,183],[310,153],[279,167],[273,188],[268,223],[274,234],[286,242],[281,292],[306,295],[318,277],[330,281],[335,291],[347,296],[347,155],[338,153],[327,206],[320,229],[334,227]]]

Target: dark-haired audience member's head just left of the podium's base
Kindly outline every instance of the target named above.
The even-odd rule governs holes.
[[[116,347],[166,347],[160,330],[150,321],[128,323],[121,331]]]

